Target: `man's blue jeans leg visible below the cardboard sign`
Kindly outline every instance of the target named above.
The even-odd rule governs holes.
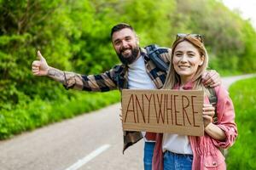
[[[152,157],[155,142],[145,142],[144,145],[144,170],[152,170]]]

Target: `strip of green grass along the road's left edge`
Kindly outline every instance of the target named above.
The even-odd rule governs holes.
[[[119,91],[72,93],[69,99],[67,95],[61,95],[54,101],[37,97],[26,104],[16,105],[15,109],[0,111],[0,139],[9,139],[15,134],[95,111],[120,100]]]

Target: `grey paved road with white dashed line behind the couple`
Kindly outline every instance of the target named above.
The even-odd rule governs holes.
[[[227,77],[223,84],[252,76]],[[0,170],[143,169],[143,140],[122,154],[119,109],[111,105],[0,141]]]

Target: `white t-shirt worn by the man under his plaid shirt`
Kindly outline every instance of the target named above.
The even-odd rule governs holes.
[[[140,56],[135,62],[131,65],[128,65],[128,88],[129,89],[155,89],[154,82],[148,76],[146,71],[146,65],[143,59],[143,56]],[[143,137],[145,141],[148,141],[145,138],[145,132]],[[148,141],[150,142],[150,141]]]

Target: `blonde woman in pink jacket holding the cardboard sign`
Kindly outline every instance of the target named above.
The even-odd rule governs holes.
[[[203,121],[205,134],[202,137],[171,133],[157,135],[154,148],[154,170],[160,169],[225,169],[224,156],[218,148],[228,148],[237,136],[235,111],[224,87],[214,88],[218,103],[218,122],[212,122],[214,107],[210,105],[209,89],[203,86],[201,75],[207,69],[208,55],[201,36],[177,34],[172,45],[170,70],[164,88],[179,90],[203,90]]]

